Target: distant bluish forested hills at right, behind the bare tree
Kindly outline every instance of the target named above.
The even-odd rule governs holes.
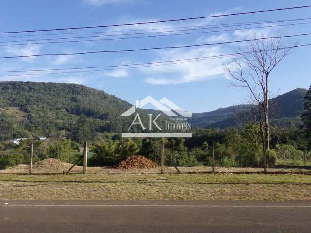
[[[271,122],[276,120],[293,121],[300,123],[300,115],[303,111],[304,96],[307,90],[297,88],[285,94],[279,95],[270,100]],[[227,108],[219,108],[215,111],[205,113],[194,113],[192,115],[192,124],[200,127],[218,127],[225,128],[237,125],[237,116],[241,113],[249,111],[252,105],[236,105]]]

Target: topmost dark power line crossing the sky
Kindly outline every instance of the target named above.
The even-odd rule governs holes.
[[[61,31],[61,30],[73,30],[73,29],[87,29],[87,28],[106,28],[106,27],[117,27],[117,26],[142,25],[142,24],[151,24],[151,23],[177,22],[177,21],[204,19],[204,18],[213,18],[213,17],[237,16],[237,15],[255,14],[255,13],[263,13],[263,12],[274,12],[274,11],[283,11],[283,10],[292,10],[292,9],[302,9],[302,8],[307,8],[307,7],[311,7],[311,5],[287,7],[287,8],[277,8],[277,9],[260,10],[260,11],[240,12],[240,13],[232,13],[232,14],[222,14],[222,15],[216,15],[216,16],[189,17],[189,18],[168,19],[168,20],[160,20],[160,21],[125,23],[125,24],[111,24],[111,25],[87,26],[87,27],[71,27],[71,28],[54,28],[54,29],[40,29],[40,30],[0,32],[0,34]]]

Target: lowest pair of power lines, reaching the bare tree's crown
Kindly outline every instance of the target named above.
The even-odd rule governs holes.
[[[298,48],[303,46],[310,46],[311,44],[296,45],[291,47],[281,47],[277,50],[289,49],[289,48]],[[269,49],[276,50],[276,49]],[[262,51],[262,50],[259,50]],[[148,63],[134,63],[134,64],[123,64],[123,65],[112,65],[112,66],[96,66],[96,67],[75,67],[75,68],[58,68],[58,69],[33,69],[33,70],[11,70],[11,71],[0,71],[0,73],[17,73],[17,72],[37,72],[37,71],[59,71],[59,70],[77,70],[77,69],[91,69],[91,68],[109,68],[109,69],[96,69],[96,70],[78,70],[78,71],[67,71],[67,72],[52,72],[52,73],[35,73],[35,74],[13,74],[13,75],[2,75],[0,77],[14,77],[14,76],[30,76],[30,75],[45,75],[45,74],[67,74],[67,73],[81,73],[81,72],[95,72],[95,71],[106,71],[106,70],[119,70],[119,69],[132,69],[132,68],[141,68],[141,67],[155,67],[171,64],[179,64],[186,62],[202,61],[208,59],[232,57],[242,54],[250,54],[252,51],[248,52],[238,52],[230,54],[221,54],[214,56],[205,56],[205,57],[196,57],[196,58],[187,58],[187,59],[178,59],[178,60],[169,60],[169,61],[159,61],[159,62],[148,62]],[[121,68],[112,68],[112,67],[121,67]]]

